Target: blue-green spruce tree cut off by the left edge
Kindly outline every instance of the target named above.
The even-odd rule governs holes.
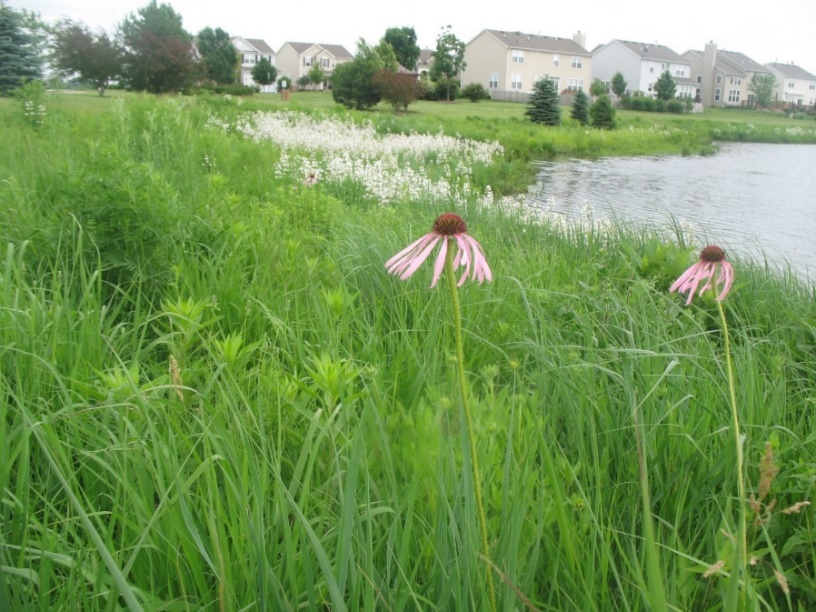
[[[40,77],[41,58],[26,18],[25,11],[0,4],[0,94]]]

